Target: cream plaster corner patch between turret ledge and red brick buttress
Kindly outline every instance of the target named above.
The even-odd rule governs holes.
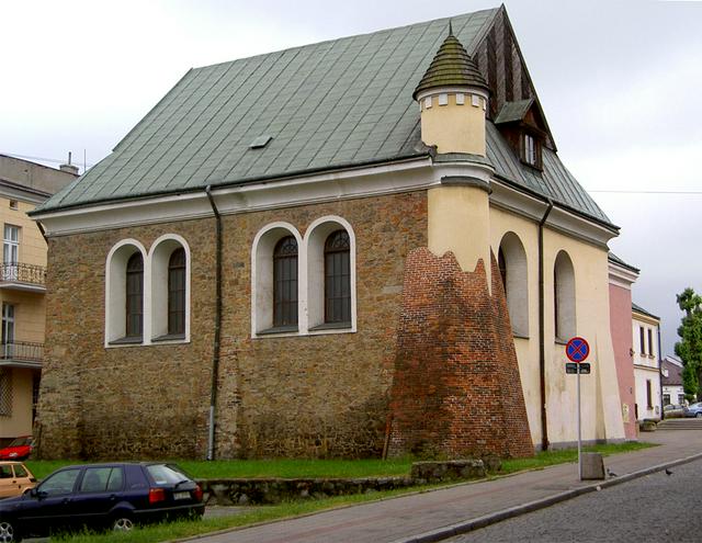
[[[453,251],[464,271],[474,271],[478,259],[490,278],[489,203],[477,186],[442,185],[428,194],[429,250],[442,256]]]

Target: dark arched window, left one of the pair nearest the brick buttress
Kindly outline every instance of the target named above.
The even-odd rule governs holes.
[[[273,249],[273,326],[297,325],[297,240],[281,239]]]

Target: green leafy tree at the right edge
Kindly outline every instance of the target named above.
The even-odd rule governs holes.
[[[686,396],[702,400],[702,296],[688,287],[677,295],[677,302],[684,312],[676,343],[676,354],[684,366],[682,387]]]

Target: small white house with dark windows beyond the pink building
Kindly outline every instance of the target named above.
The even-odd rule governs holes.
[[[659,419],[660,347],[658,342],[660,318],[643,307],[632,304],[633,362],[636,393],[636,419]]]

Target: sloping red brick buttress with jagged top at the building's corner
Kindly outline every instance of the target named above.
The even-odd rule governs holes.
[[[412,251],[392,392],[390,454],[533,454],[507,301],[495,257],[464,272],[453,253]]]

